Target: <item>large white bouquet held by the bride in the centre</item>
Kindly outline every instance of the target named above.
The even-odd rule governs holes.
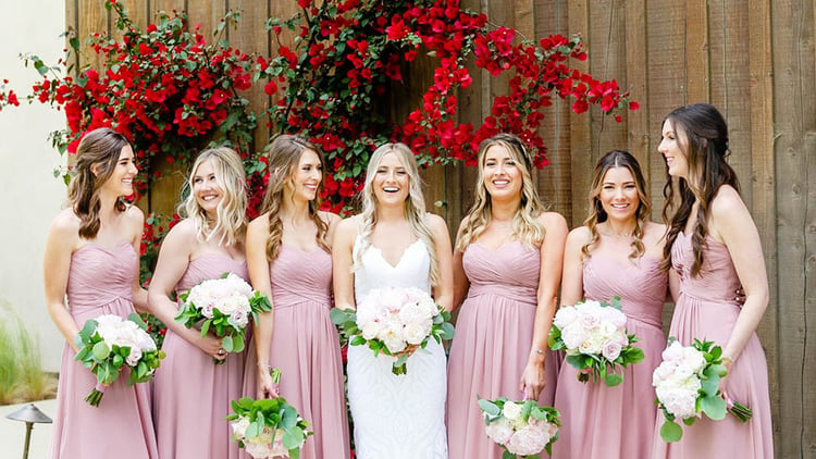
[[[374,356],[393,356],[394,374],[405,374],[408,357],[430,338],[442,343],[454,337],[450,313],[419,288],[374,288],[356,311],[334,308],[331,318],[351,346],[368,345]]]

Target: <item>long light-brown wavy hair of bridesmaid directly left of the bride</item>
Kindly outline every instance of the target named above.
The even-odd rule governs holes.
[[[283,237],[281,210],[286,207],[284,190],[286,186],[294,187],[293,177],[300,163],[300,157],[304,156],[306,150],[313,151],[320,159],[320,165],[325,165],[320,149],[302,137],[283,134],[272,140],[269,146],[269,185],[267,185],[261,210],[261,213],[269,212],[269,238],[267,238],[267,259],[269,261],[275,260],[281,253]],[[320,218],[319,213],[322,191],[323,181],[321,179],[318,184],[317,197],[309,201],[309,216],[318,226],[318,246],[329,252],[329,243],[325,240],[329,225]]]

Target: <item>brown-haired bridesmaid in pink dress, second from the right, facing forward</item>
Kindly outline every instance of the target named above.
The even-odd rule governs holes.
[[[652,204],[638,161],[613,150],[592,177],[590,215],[572,230],[564,255],[561,303],[620,297],[627,331],[640,339],[642,362],[623,370],[623,382],[607,387],[581,383],[578,370],[561,365],[555,408],[561,413],[553,458],[648,458],[655,424],[652,372],[660,363],[666,338],[660,313],[668,276],[660,269],[664,225],[648,218]]]

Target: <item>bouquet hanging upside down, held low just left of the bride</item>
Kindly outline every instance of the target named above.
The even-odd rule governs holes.
[[[281,371],[272,369],[277,384]],[[283,397],[233,400],[233,413],[226,417],[238,446],[254,458],[300,457],[306,437],[312,434],[309,423]]]

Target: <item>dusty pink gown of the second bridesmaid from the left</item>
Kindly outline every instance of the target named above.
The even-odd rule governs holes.
[[[224,253],[207,253],[187,264],[176,295],[203,281],[232,272],[247,278],[247,265]],[[153,423],[162,459],[237,458],[238,445],[224,417],[240,398],[245,352],[228,353],[214,364],[212,356],[168,330],[164,361],[153,380]]]

